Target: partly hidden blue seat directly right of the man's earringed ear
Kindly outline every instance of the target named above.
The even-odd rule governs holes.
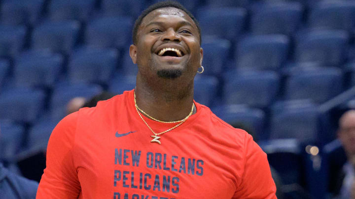
[[[205,68],[204,75],[218,77],[223,71],[224,63],[231,48],[231,42],[226,39],[204,39],[201,47],[204,49],[202,65]]]

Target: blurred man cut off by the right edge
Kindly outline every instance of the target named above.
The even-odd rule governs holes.
[[[347,111],[340,117],[338,138],[348,158],[343,167],[345,178],[339,199],[355,199],[355,110]]]

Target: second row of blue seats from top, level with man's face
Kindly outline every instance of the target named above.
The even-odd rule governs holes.
[[[114,23],[125,24],[124,21],[115,19]],[[100,20],[99,20],[100,21]],[[24,29],[7,29],[0,27],[0,57],[12,57],[15,61],[21,57],[42,56],[40,52],[51,50],[52,52],[70,55],[70,59],[78,59],[90,54],[99,53],[103,49],[106,54],[118,48],[117,56],[112,57],[117,61],[122,59],[120,64],[126,68],[131,68],[132,61],[129,57],[127,44],[128,35],[130,35],[130,26],[126,24],[124,28],[115,28],[110,23],[97,23],[97,28],[89,29],[86,33],[84,46],[76,47],[78,30],[73,31],[74,24],[68,22],[66,25],[53,28],[39,28],[34,30],[30,42],[30,53],[22,48],[25,45]],[[64,28],[64,26],[68,26]],[[103,26],[106,26],[105,29]],[[117,30],[119,29],[119,30]],[[106,31],[107,30],[107,31]],[[124,32],[122,36],[119,32]],[[109,49],[106,49],[109,48]],[[218,76],[227,69],[225,65],[231,65],[230,68],[241,70],[280,70],[289,63],[294,62],[314,62],[325,66],[340,66],[347,60],[355,58],[349,52],[354,49],[350,42],[350,36],[343,30],[315,30],[300,33],[298,39],[292,42],[285,35],[254,35],[246,36],[240,39],[235,49],[230,41],[208,37],[203,41],[204,48],[203,64],[206,66],[206,73]],[[106,50],[105,50],[106,49]],[[33,52],[34,51],[34,52]],[[234,53],[231,53],[233,52]],[[36,54],[37,53],[37,54]],[[38,55],[39,54],[39,55]],[[232,54],[232,56],[230,56]],[[349,54],[349,55],[348,55]],[[112,54],[113,55],[113,54]],[[66,58],[66,57],[63,57]],[[80,58],[79,58],[80,59]],[[230,64],[227,64],[230,63]],[[125,70],[126,74],[134,74],[136,71]]]

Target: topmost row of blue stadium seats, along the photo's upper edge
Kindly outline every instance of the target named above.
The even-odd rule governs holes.
[[[51,21],[88,21],[98,13],[104,16],[137,17],[147,5],[161,0],[4,0],[0,9],[0,23],[10,25],[35,25],[43,21],[43,16]],[[250,12],[250,29],[255,33],[291,34],[299,28],[306,10],[308,27],[330,27],[350,30],[354,23],[347,19],[354,17],[355,4],[351,0],[178,0],[191,10],[204,27],[216,20],[228,19],[228,28],[244,27]],[[313,6],[308,6],[313,5]],[[226,8],[229,7],[229,8]],[[236,8],[240,7],[240,8]],[[219,18],[219,19],[217,19]],[[282,19],[282,20],[279,20]],[[212,20],[212,21],[209,21]],[[221,25],[221,24],[216,24]],[[223,25],[222,25],[223,26]],[[225,29],[225,28],[224,28]],[[275,32],[277,31],[277,32]]]

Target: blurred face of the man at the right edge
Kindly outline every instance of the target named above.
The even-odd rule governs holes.
[[[348,156],[355,157],[355,111],[342,116],[339,122],[338,137]]]

